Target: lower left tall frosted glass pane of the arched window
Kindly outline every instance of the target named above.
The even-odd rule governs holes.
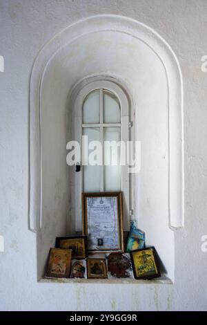
[[[99,127],[84,127],[83,136],[88,136],[88,145],[91,141],[100,140]],[[90,154],[95,149],[88,150],[87,145],[83,141],[83,163],[88,162]],[[83,165],[83,192],[99,192],[100,191],[100,166]]]

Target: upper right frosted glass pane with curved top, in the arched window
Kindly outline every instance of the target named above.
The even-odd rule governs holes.
[[[103,90],[103,122],[119,123],[121,109],[118,98],[110,91]]]

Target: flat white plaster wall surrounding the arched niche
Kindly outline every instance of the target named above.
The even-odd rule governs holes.
[[[36,237],[28,231],[30,71],[39,49],[57,32],[77,19],[103,13],[132,17],[157,30],[175,50],[184,74],[186,226],[175,232],[173,285],[37,283]],[[206,1],[0,1],[0,55],[5,59],[5,72],[0,74],[0,234],[5,239],[5,252],[0,252],[1,310],[206,309],[203,284],[207,280],[207,253],[201,252],[201,236],[207,232],[207,157],[204,149],[207,74],[200,69],[201,56],[206,54],[207,46],[206,14]],[[146,106],[146,117],[150,113],[149,107]],[[148,127],[153,126],[152,122],[148,122]],[[53,134],[52,129],[49,130],[46,140]],[[63,143],[64,139],[60,141]],[[45,163],[48,162],[45,160]],[[61,164],[63,160],[57,158],[52,168]],[[144,169],[143,173],[148,171]],[[56,185],[57,193],[59,188],[66,186],[61,182],[61,175],[59,182],[50,185]],[[164,189],[162,191],[164,194]],[[61,204],[61,198],[56,196],[56,199]],[[46,208],[50,210],[50,207]],[[48,213],[58,211],[54,212],[51,207]],[[140,206],[139,213],[146,214],[146,211]],[[150,217],[150,205],[147,213]],[[144,221],[142,225],[144,228]],[[106,295],[108,299],[104,298]]]

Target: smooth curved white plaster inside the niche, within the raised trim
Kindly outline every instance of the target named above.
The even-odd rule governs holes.
[[[128,61],[127,58],[130,57]],[[105,31],[79,37],[57,51],[41,84],[42,227],[38,240],[38,278],[55,237],[75,233],[77,205],[68,190],[66,143],[75,123],[68,92],[83,77],[95,74],[121,78],[132,92],[136,139],[141,141],[141,171],[132,210],[155,245],[166,274],[174,279],[174,234],[168,228],[168,85],[159,57],[144,42],[121,32]],[[66,122],[67,117],[71,122]],[[132,175],[133,177],[134,175]],[[81,201],[81,193],[79,194]],[[70,198],[70,200],[69,200]],[[135,206],[137,203],[137,206]],[[70,207],[70,211],[68,211]],[[136,208],[136,210],[135,210]],[[68,223],[68,232],[66,230]],[[128,229],[125,229],[128,230]],[[162,235],[160,235],[162,234]],[[166,245],[167,242],[167,245]]]

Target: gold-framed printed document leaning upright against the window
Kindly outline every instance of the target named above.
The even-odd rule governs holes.
[[[83,193],[82,222],[88,251],[123,252],[121,192]]]

